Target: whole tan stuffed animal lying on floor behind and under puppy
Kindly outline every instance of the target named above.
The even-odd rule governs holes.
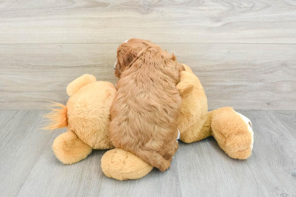
[[[182,71],[177,85],[182,98],[178,121],[180,140],[190,143],[213,135],[230,157],[248,158],[253,148],[250,120],[231,107],[208,112],[200,81],[187,65],[184,66],[186,71]],[[86,74],[68,85],[67,94],[70,96],[67,106],[54,103],[52,106],[62,108],[45,115],[50,123],[44,129],[67,127],[68,130],[53,142],[56,157],[64,164],[73,164],[85,159],[92,149],[114,148],[108,127],[115,86]],[[101,167],[106,176],[117,180],[139,179],[153,169],[136,155],[119,148],[103,155]]]

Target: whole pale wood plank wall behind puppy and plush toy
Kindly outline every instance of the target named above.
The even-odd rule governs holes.
[[[0,109],[66,104],[88,73],[116,83],[120,43],[151,40],[192,68],[209,110],[296,110],[293,1],[2,1]]]

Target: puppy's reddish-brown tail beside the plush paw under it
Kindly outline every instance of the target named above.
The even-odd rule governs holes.
[[[135,154],[151,166],[157,167],[160,171],[165,171],[171,166],[171,161],[164,159],[158,152],[138,149]]]

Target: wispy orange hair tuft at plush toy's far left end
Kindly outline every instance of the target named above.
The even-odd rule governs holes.
[[[48,118],[48,123],[47,125],[44,125],[46,127],[43,127],[42,129],[46,130],[53,130],[53,129],[58,129],[58,128],[63,128],[68,125],[67,121],[67,106],[52,102],[53,104],[47,107],[61,107],[60,109],[52,109],[52,111],[48,114],[44,114],[43,117]]]

